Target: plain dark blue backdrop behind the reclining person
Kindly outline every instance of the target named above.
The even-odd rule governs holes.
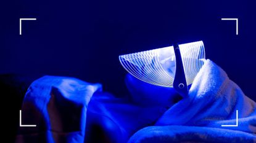
[[[204,41],[206,56],[250,98],[255,86],[255,1],[4,1],[0,73],[100,82],[125,94],[118,55]],[[19,18],[37,18],[23,22]],[[239,18],[239,35],[235,21]]]

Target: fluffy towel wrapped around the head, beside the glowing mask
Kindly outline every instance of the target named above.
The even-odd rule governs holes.
[[[223,69],[207,60],[188,97],[130,142],[256,142],[255,106]]]

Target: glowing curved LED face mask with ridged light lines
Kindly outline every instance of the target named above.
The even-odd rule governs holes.
[[[183,97],[205,61],[202,41],[119,56],[131,75],[147,83],[173,87]]]

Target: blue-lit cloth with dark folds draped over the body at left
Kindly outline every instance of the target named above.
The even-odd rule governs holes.
[[[35,80],[22,105],[22,125],[15,142],[84,142],[86,110],[100,84],[70,77],[44,76]]]

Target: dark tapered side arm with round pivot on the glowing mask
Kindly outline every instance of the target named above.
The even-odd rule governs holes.
[[[188,85],[186,82],[186,76],[184,72],[184,67],[182,63],[180,47],[178,44],[173,45],[175,58],[176,58],[176,71],[175,78],[173,81],[173,88],[175,88],[176,92],[185,98],[188,96]]]

